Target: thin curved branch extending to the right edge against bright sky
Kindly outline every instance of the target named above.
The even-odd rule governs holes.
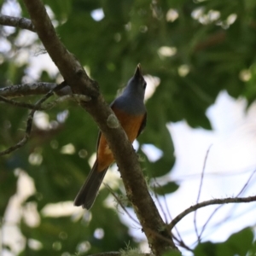
[[[230,204],[230,203],[246,203],[256,201],[255,196],[248,196],[248,197],[227,197],[224,199],[212,199],[209,201],[203,201],[201,203],[196,204],[195,206],[189,207],[185,211],[181,212],[177,215],[176,218],[172,219],[172,222],[168,224],[170,230],[185,216],[187,216],[190,212],[195,212],[197,209],[202,207],[212,206],[212,205],[223,205],[223,204]]]

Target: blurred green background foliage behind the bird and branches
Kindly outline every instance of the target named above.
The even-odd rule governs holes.
[[[16,9],[18,15],[28,17],[22,1],[0,3],[3,14]],[[206,109],[221,90],[227,90],[233,97],[245,96],[249,104],[254,101],[255,0],[44,0],[44,3],[61,41],[100,84],[106,101],[113,101],[139,62],[148,81],[160,81],[159,86],[148,83],[155,85],[155,91],[147,100],[147,129],[138,140],[142,166],[149,179],[165,176],[175,162],[172,137],[166,128],[168,122],[184,119],[191,127],[211,129]],[[28,34],[31,37],[32,32]],[[38,75],[32,73],[29,56],[37,54],[42,45],[36,37],[21,44],[21,35],[20,29],[0,27],[0,87],[35,80],[61,81],[58,73],[47,70]],[[31,96],[23,100],[37,99],[38,96]],[[1,149],[20,140],[27,114],[26,109],[1,104]],[[73,201],[90,171],[88,160],[95,153],[98,131],[90,116],[71,102],[37,116],[40,114],[49,120],[48,125],[34,125],[29,143],[0,159],[2,218],[9,198],[17,190],[20,170],[32,177],[36,189],[22,207],[36,205],[40,221],[32,225],[24,216],[21,219],[20,230],[26,246],[20,255],[67,256],[76,252],[83,255],[116,251],[125,247],[125,243],[136,246],[138,241],[129,235],[116,209],[106,204],[109,195],[106,188],[101,190],[91,213],[59,218],[44,216],[41,210],[45,206]],[[142,150],[145,144],[160,149],[157,160],[148,160],[147,152]],[[177,184],[167,177],[161,185],[156,189],[159,195],[177,189]],[[119,186],[122,186],[120,179]],[[33,247],[32,241],[40,246]]]

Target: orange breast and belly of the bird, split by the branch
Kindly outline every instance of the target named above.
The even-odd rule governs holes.
[[[116,117],[119,119],[119,123],[125,130],[129,141],[133,143],[143,123],[144,115],[131,115],[123,111],[120,111],[119,109],[116,109],[114,107],[113,107],[113,112],[115,113]],[[97,166],[98,172],[101,172],[102,170],[106,169],[114,161],[112,151],[109,148],[106,138],[103,135],[100,137],[100,140],[98,143],[97,160],[98,160],[98,166]]]

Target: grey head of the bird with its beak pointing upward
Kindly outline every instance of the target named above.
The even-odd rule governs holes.
[[[133,77],[129,80],[122,96],[132,96],[134,98],[144,99],[147,83],[143,78],[141,65],[138,64]]]

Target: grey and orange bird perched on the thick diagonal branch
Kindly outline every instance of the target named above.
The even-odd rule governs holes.
[[[110,108],[119,119],[119,123],[131,143],[141,134],[147,123],[147,110],[144,104],[146,87],[147,83],[143,78],[141,65],[138,64],[123,93],[110,104]],[[114,157],[111,148],[100,131],[96,144],[96,161],[74,200],[74,206],[82,206],[90,210],[108,167],[113,162]]]

